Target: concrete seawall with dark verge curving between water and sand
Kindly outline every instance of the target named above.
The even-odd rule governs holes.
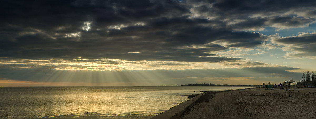
[[[254,87],[254,88],[261,88],[261,87]],[[245,89],[254,89],[254,88],[245,88]],[[183,113],[190,110],[192,106],[194,106],[196,103],[201,103],[204,101],[207,101],[210,98],[210,95],[213,93],[218,92],[229,92],[229,91],[235,91],[235,90],[244,90],[244,89],[234,89],[234,90],[223,90],[223,91],[212,91],[212,92],[203,92],[181,104],[178,104],[174,107],[172,107],[169,110],[166,110],[150,119],[174,119],[178,118],[179,116],[182,116]]]

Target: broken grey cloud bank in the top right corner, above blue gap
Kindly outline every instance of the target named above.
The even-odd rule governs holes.
[[[235,30],[306,27],[315,21],[314,0],[214,0],[191,1],[191,4],[196,5],[193,9],[201,18],[233,21],[231,27]]]

